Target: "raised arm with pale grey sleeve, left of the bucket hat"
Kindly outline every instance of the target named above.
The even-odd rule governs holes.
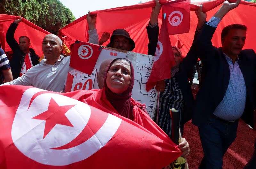
[[[99,44],[99,35],[95,27],[97,19],[97,14],[90,15],[90,11],[87,14],[87,23],[88,23],[88,34],[89,34],[89,43]]]

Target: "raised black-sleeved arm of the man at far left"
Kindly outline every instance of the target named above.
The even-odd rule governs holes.
[[[10,27],[8,28],[7,32],[6,32],[6,42],[8,43],[8,45],[10,46],[10,48],[14,51],[18,48],[20,48],[18,42],[14,39],[14,33],[15,30],[18,27],[18,24],[21,22],[22,18],[20,17],[20,19],[16,19],[14,20],[13,23],[11,23]]]

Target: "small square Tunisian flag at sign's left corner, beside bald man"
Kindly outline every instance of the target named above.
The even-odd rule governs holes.
[[[101,46],[76,41],[71,50],[70,66],[87,74],[92,74],[100,55]]]

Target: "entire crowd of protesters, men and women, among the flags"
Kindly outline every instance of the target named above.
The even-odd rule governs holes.
[[[226,26],[221,33],[222,48],[216,48],[211,42],[221,19],[239,3],[240,0],[235,3],[225,1],[209,21],[206,21],[206,13],[202,11],[201,4],[196,11],[198,23],[194,41],[187,56],[182,56],[180,46],[170,46],[175,65],[170,70],[172,78],[158,81],[156,84],[160,99],[154,121],[148,117],[145,106],[131,97],[134,72],[131,62],[124,58],[102,62],[96,77],[100,89],[84,91],[82,99],[90,105],[97,104],[102,111],[120,114],[145,128],[156,126],[157,123],[170,138],[172,124],[169,110],[171,108],[179,110],[181,134],[184,124],[191,119],[192,123],[198,127],[204,151],[204,158],[199,168],[221,169],[223,155],[236,138],[238,119],[242,118],[253,127],[253,111],[256,105],[256,55],[252,49],[242,50],[247,27],[240,24]],[[160,9],[161,5],[156,0],[156,6],[152,8],[150,21],[146,27],[149,40],[148,55],[154,56],[156,52]],[[110,33],[104,32],[99,40],[95,27],[96,19],[97,15],[90,15],[88,12],[88,42],[101,45],[110,38],[108,47],[127,51],[135,48],[135,42],[124,29],[114,30],[111,36]],[[0,70],[4,77],[3,80],[0,79],[0,84],[5,82],[2,85],[34,86],[62,92],[72,56],[61,55],[63,42],[57,35],[49,34],[42,42],[45,59],[39,62],[38,55],[29,48],[29,37],[21,36],[19,42],[14,39],[15,30],[20,21],[21,18],[14,20],[6,32],[6,42],[13,51],[10,63],[4,51],[0,49]],[[69,50],[66,49],[66,51]],[[28,53],[30,53],[33,67],[20,77],[24,58]],[[66,55],[67,53],[69,54],[70,51],[66,52]],[[200,73],[198,77],[200,89],[195,99],[191,91],[192,82],[188,79],[191,79],[189,78],[191,70],[193,74],[196,68]],[[141,123],[140,119],[143,118],[148,120],[147,124]],[[182,139],[179,148],[183,151],[183,157],[189,155],[190,148],[186,139]],[[254,152],[254,156],[246,167],[255,167],[255,161]]]

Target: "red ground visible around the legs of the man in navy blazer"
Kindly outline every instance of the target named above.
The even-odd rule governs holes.
[[[192,92],[196,94],[197,85],[192,85]],[[184,127],[183,137],[189,143],[190,156],[187,158],[188,167],[197,169],[204,156],[199,138],[198,128],[191,122],[187,122]],[[241,169],[252,157],[254,151],[254,141],[256,130],[248,127],[243,120],[239,120],[236,140],[231,144],[223,158],[223,169]],[[255,166],[256,168],[256,166]]]

